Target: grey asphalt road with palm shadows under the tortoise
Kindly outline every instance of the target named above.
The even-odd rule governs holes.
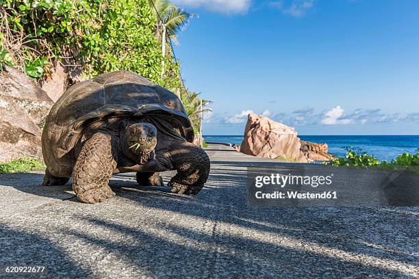
[[[0,174],[1,269],[45,266],[34,278],[419,277],[419,207],[254,207],[246,200],[251,166],[334,172],[342,189],[365,185],[367,176],[378,184],[399,178],[348,177],[226,146],[207,152],[210,179],[192,197],[138,187],[132,174],[121,174],[111,183],[116,197],[82,204],[70,185],[41,187],[40,172]],[[0,277],[12,274],[0,270]]]

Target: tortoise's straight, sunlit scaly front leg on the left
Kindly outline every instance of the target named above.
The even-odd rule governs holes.
[[[79,153],[72,175],[73,190],[81,202],[102,202],[115,195],[108,183],[116,168],[118,139],[95,133]]]

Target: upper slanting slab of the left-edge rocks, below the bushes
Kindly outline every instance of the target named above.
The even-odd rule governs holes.
[[[0,72],[0,100],[12,98],[38,126],[42,126],[53,101],[40,86],[18,70],[5,66]]]

